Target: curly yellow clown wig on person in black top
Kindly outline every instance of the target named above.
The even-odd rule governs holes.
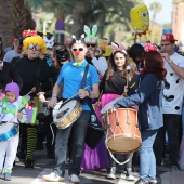
[[[40,55],[45,53],[47,44],[45,44],[44,40],[42,39],[42,37],[40,37],[40,36],[27,37],[23,41],[23,49],[24,49],[25,52],[28,50],[28,47],[31,43],[40,47]]]

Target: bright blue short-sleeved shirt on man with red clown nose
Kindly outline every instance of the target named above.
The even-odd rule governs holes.
[[[57,83],[63,84],[63,98],[69,98],[74,94],[77,94],[79,89],[81,88],[82,78],[84,74],[84,68],[88,64],[87,61],[82,63],[81,66],[74,66],[74,61],[66,63],[62,70],[60,71]],[[89,70],[87,74],[87,80],[84,83],[84,88],[89,86],[87,91],[92,90],[92,86],[98,83],[100,79],[97,76],[97,70],[94,66],[89,65]],[[78,95],[75,98],[79,97]],[[90,107],[87,104],[82,104],[83,110],[90,110]]]

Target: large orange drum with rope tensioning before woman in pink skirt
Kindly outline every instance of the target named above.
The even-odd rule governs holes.
[[[118,108],[106,113],[106,145],[114,153],[132,153],[141,147],[137,111],[134,108]]]

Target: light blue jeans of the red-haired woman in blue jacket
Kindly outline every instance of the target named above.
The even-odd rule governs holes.
[[[140,148],[140,178],[143,181],[156,179],[156,160],[153,145],[158,130],[146,130],[141,132],[142,146]]]

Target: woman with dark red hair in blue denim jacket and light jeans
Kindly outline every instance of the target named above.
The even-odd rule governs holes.
[[[118,108],[139,105],[139,123],[141,128],[142,146],[140,148],[140,180],[136,184],[155,184],[156,160],[153,144],[162,122],[162,80],[166,76],[163,60],[157,48],[147,45],[144,57],[145,68],[141,73],[141,83],[137,93],[119,100],[111,111]]]

